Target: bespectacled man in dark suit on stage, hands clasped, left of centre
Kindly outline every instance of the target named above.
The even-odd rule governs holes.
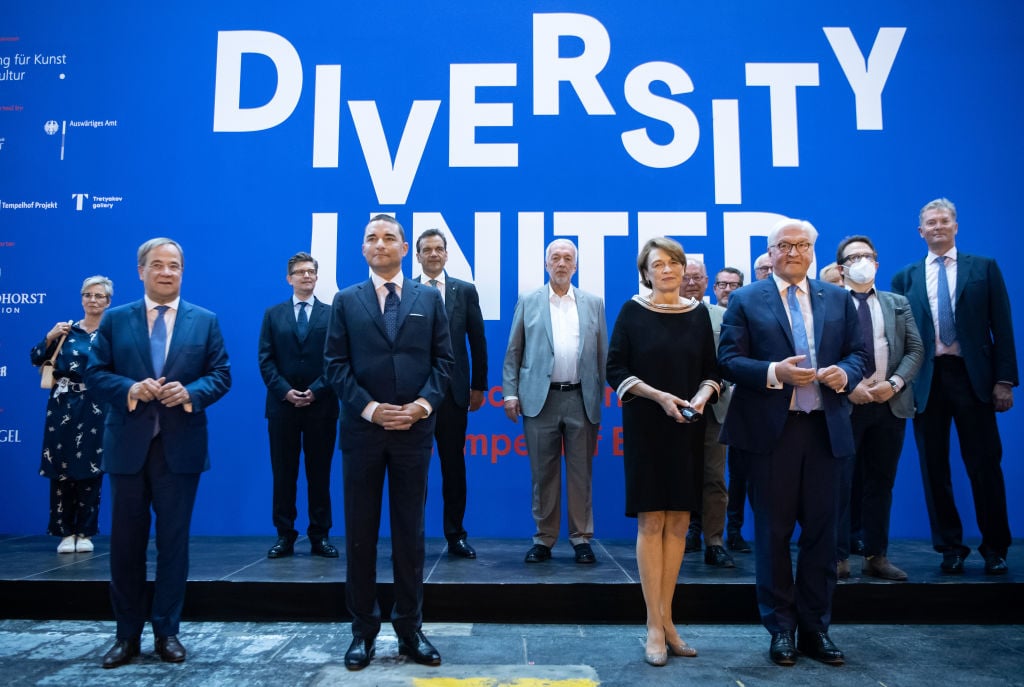
[[[337,558],[331,531],[331,458],[338,432],[338,397],[324,376],[324,341],[331,308],[313,296],[319,265],[308,253],[288,260],[292,297],[263,313],[259,371],[266,385],[266,425],[273,471],[273,526],[267,558],[295,553],[295,485],[306,456],[310,552]]]

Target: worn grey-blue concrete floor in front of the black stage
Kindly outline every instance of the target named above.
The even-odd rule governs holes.
[[[595,600],[598,603],[598,600]],[[389,630],[377,638],[377,657],[358,673],[342,659],[346,622],[183,622],[188,650],[182,664],[162,663],[143,637],[132,664],[102,670],[114,637],[112,621],[0,620],[0,681],[4,685],[328,685],[417,687],[682,684],[859,685],[912,687],[1024,685],[1022,626],[834,626],[847,663],[830,668],[801,658],[772,664],[760,626],[680,626],[700,655],[643,662],[640,626],[428,624],[424,632],[443,658],[440,668],[406,662]]]

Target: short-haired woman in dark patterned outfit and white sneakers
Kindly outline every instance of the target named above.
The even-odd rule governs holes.
[[[57,545],[61,554],[91,552],[97,528],[104,409],[92,400],[82,380],[96,328],[113,295],[114,283],[105,276],[85,280],[82,318],[57,323],[32,349],[32,363],[42,364],[53,355],[60,338],[67,337],[53,363],[55,384],[46,403],[39,467],[39,474],[50,480],[46,531],[61,538]]]

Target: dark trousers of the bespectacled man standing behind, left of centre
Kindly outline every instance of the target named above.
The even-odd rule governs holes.
[[[267,418],[270,437],[270,469],[273,472],[273,526],[279,536],[295,539],[296,484],[299,479],[299,455],[305,456],[306,501],[309,513],[309,539],[327,536],[331,531],[331,460],[338,436],[337,420],[314,416],[308,409],[282,409]]]

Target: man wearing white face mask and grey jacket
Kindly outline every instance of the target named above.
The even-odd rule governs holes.
[[[874,245],[863,235],[844,239],[836,251],[868,353],[864,379],[850,392],[857,454],[848,461],[841,484],[837,567],[840,577],[849,576],[852,521],[863,532],[861,572],[902,582],[906,573],[886,556],[889,515],[906,419],[913,417],[913,393],[907,387],[921,369],[925,346],[907,299],[874,289],[877,260]],[[855,482],[860,488],[853,488]]]

